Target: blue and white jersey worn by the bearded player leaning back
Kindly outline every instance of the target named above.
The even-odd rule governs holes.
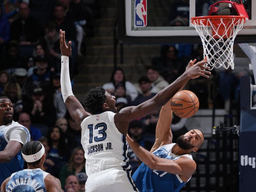
[[[164,145],[156,149],[153,154],[160,158],[176,161],[181,156],[172,153],[172,147],[174,145],[175,143]],[[192,159],[192,156],[189,154],[182,156]],[[152,170],[144,163],[134,172],[132,179],[140,192],[178,192],[186,184],[186,182],[180,179],[179,175]]]

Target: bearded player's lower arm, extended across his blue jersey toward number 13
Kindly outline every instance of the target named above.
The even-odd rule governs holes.
[[[188,181],[191,175],[196,171],[196,162],[186,156],[180,157],[176,161],[159,158],[147,149],[141,147],[127,135],[127,141],[136,156],[152,170],[164,171],[172,174],[178,174],[184,182]]]

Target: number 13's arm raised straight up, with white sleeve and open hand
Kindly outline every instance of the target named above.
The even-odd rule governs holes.
[[[65,105],[68,109],[71,117],[76,121],[76,124],[81,126],[82,121],[90,113],[86,112],[81,105],[81,103],[76,99],[72,92],[69,67],[68,67],[68,57],[71,54],[71,41],[68,42],[68,46],[65,42],[65,31],[60,29],[60,51],[61,51],[61,72],[60,72],[60,85],[61,93]],[[80,127],[81,128],[81,127]]]

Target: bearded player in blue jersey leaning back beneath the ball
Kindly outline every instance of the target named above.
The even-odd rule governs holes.
[[[156,125],[156,141],[150,152],[127,136],[127,142],[143,162],[132,175],[140,192],[178,192],[196,171],[196,162],[190,152],[196,152],[204,143],[204,135],[194,129],[172,143],[171,100],[161,109]]]

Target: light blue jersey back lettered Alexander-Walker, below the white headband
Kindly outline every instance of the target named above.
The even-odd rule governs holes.
[[[42,169],[24,169],[12,173],[10,180],[6,184],[6,192],[46,192],[44,178],[49,173]]]

